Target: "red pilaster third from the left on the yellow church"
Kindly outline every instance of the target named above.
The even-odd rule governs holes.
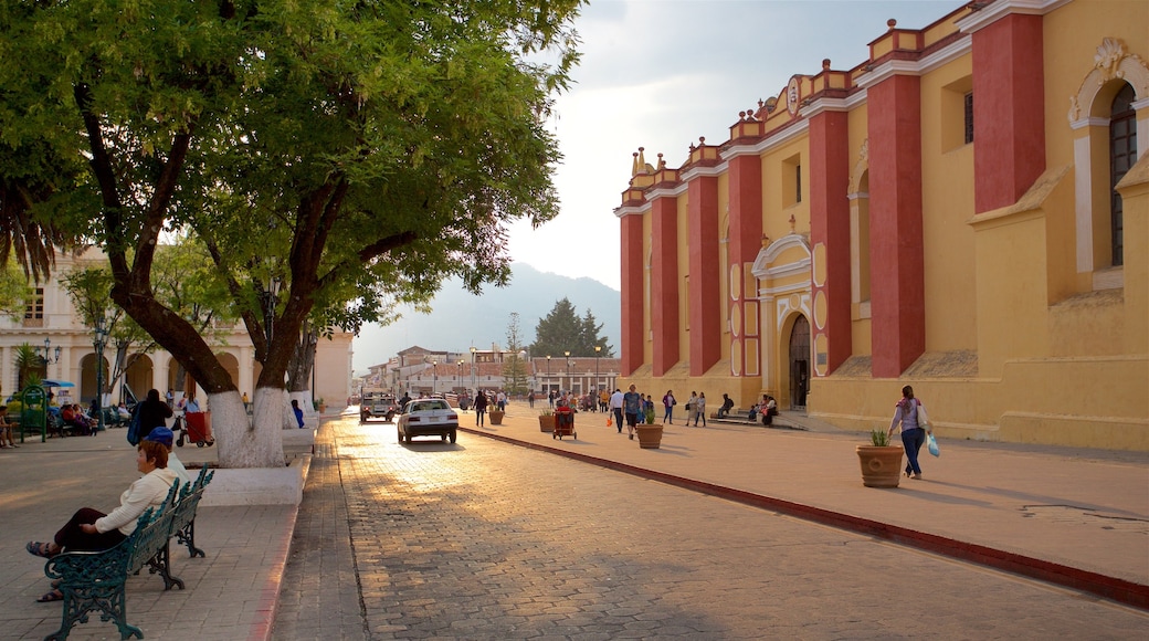
[[[718,263],[718,178],[695,176],[689,198],[691,376],[702,376],[722,357]]]

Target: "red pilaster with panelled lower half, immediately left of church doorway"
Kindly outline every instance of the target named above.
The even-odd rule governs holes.
[[[750,269],[762,249],[762,156],[738,155],[728,159],[727,167],[731,374],[757,377],[762,373],[759,315],[757,279]]]

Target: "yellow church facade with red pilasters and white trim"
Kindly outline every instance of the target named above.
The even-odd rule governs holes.
[[[619,383],[857,430],[909,384],[944,437],[1149,450],[1147,33],[1139,1],[890,21],[681,165],[640,149]]]

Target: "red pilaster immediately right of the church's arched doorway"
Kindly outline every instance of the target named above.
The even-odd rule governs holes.
[[[831,373],[850,357],[849,125],[842,111],[810,118],[810,237],[825,247],[825,272],[815,265],[813,295],[826,303],[824,325],[815,315],[813,334],[826,337],[827,353],[816,354],[815,372]],[[819,277],[824,280],[819,285]],[[824,365],[820,361],[825,360]],[[824,368],[824,369],[823,369]]]

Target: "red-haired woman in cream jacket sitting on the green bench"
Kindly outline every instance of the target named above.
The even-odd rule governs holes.
[[[145,439],[136,451],[136,469],[144,477],[124,491],[118,508],[110,515],[80,508],[51,542],[29,541],[25,546],[29,554],[52,558],[62,551],[101,551],[116,547],[130,536],[140,515],[148,508],[162,505],[176,480],[176,472],[168,469],[168,448],[163,443]],[[63,593],[53,586],[37,601],[48,603],[63,597]]]

